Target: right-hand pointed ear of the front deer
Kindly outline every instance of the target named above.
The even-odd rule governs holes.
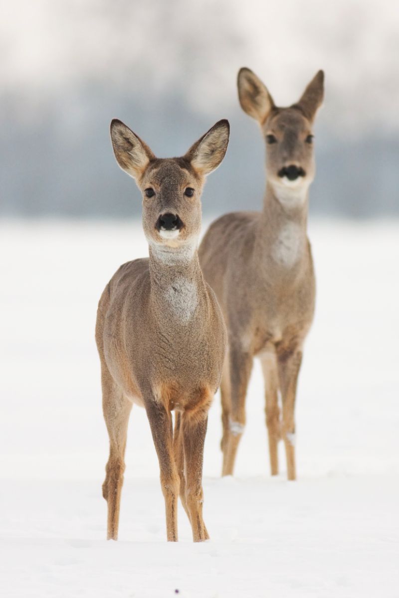
[[[208,175],[215,170],[226,154],[229,144],[230,124],[224,119],[218,121],[212,129],[209,129],[185,154],[194,170],[200,175]]]

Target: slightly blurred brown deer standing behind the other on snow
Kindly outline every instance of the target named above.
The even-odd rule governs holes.
[[[324,96],[319,71],[300,100],[275,105],[248,68],[237,78],[240,105],[266,142],[261,212],[227,213],[209,227],[199,249],[205,279],[227,326],[221,380],[222,475],[233,475],[245,429],[245,397],[254,358],[265,382],[270,469],[277,475],[284,441],[288,480],[296,479],[295,403],[303,344],[315,310],[315,274],[307,239],[309,186],[315,176],[313,123]]]

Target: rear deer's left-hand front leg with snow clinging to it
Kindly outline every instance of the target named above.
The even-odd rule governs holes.
[[[252,370],[252,355],[230,347],[230,414],[229,431],[223,447],[222,475],[233,475],[239,442],[245,428],[245,396]]]

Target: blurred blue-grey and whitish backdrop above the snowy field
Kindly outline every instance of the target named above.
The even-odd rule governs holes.
[[[112,117],[160,157],[229,118],[204,212],[260,208],[264,144],[239,108],[241,66],[278,105],[325,70],[313,215],[399,213],[398,2],[17,0],[2,2],[0,43],[0,216],[139,216]]]

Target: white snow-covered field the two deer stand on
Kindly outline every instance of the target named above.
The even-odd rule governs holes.
[[[205,228],[205,227],[204,227]],[[299,479],[271,478],[255,365],[236,477],[209,414],[204,516],[168,544],[159,469],[134,407],[120,540],[106,542],[108,437],[96,305],[141,225],[0,222],[0,596],[399,596],[399,222],[310,222],[318,280],[297,401]],[[282,447],[281,447],[282,449]]]

